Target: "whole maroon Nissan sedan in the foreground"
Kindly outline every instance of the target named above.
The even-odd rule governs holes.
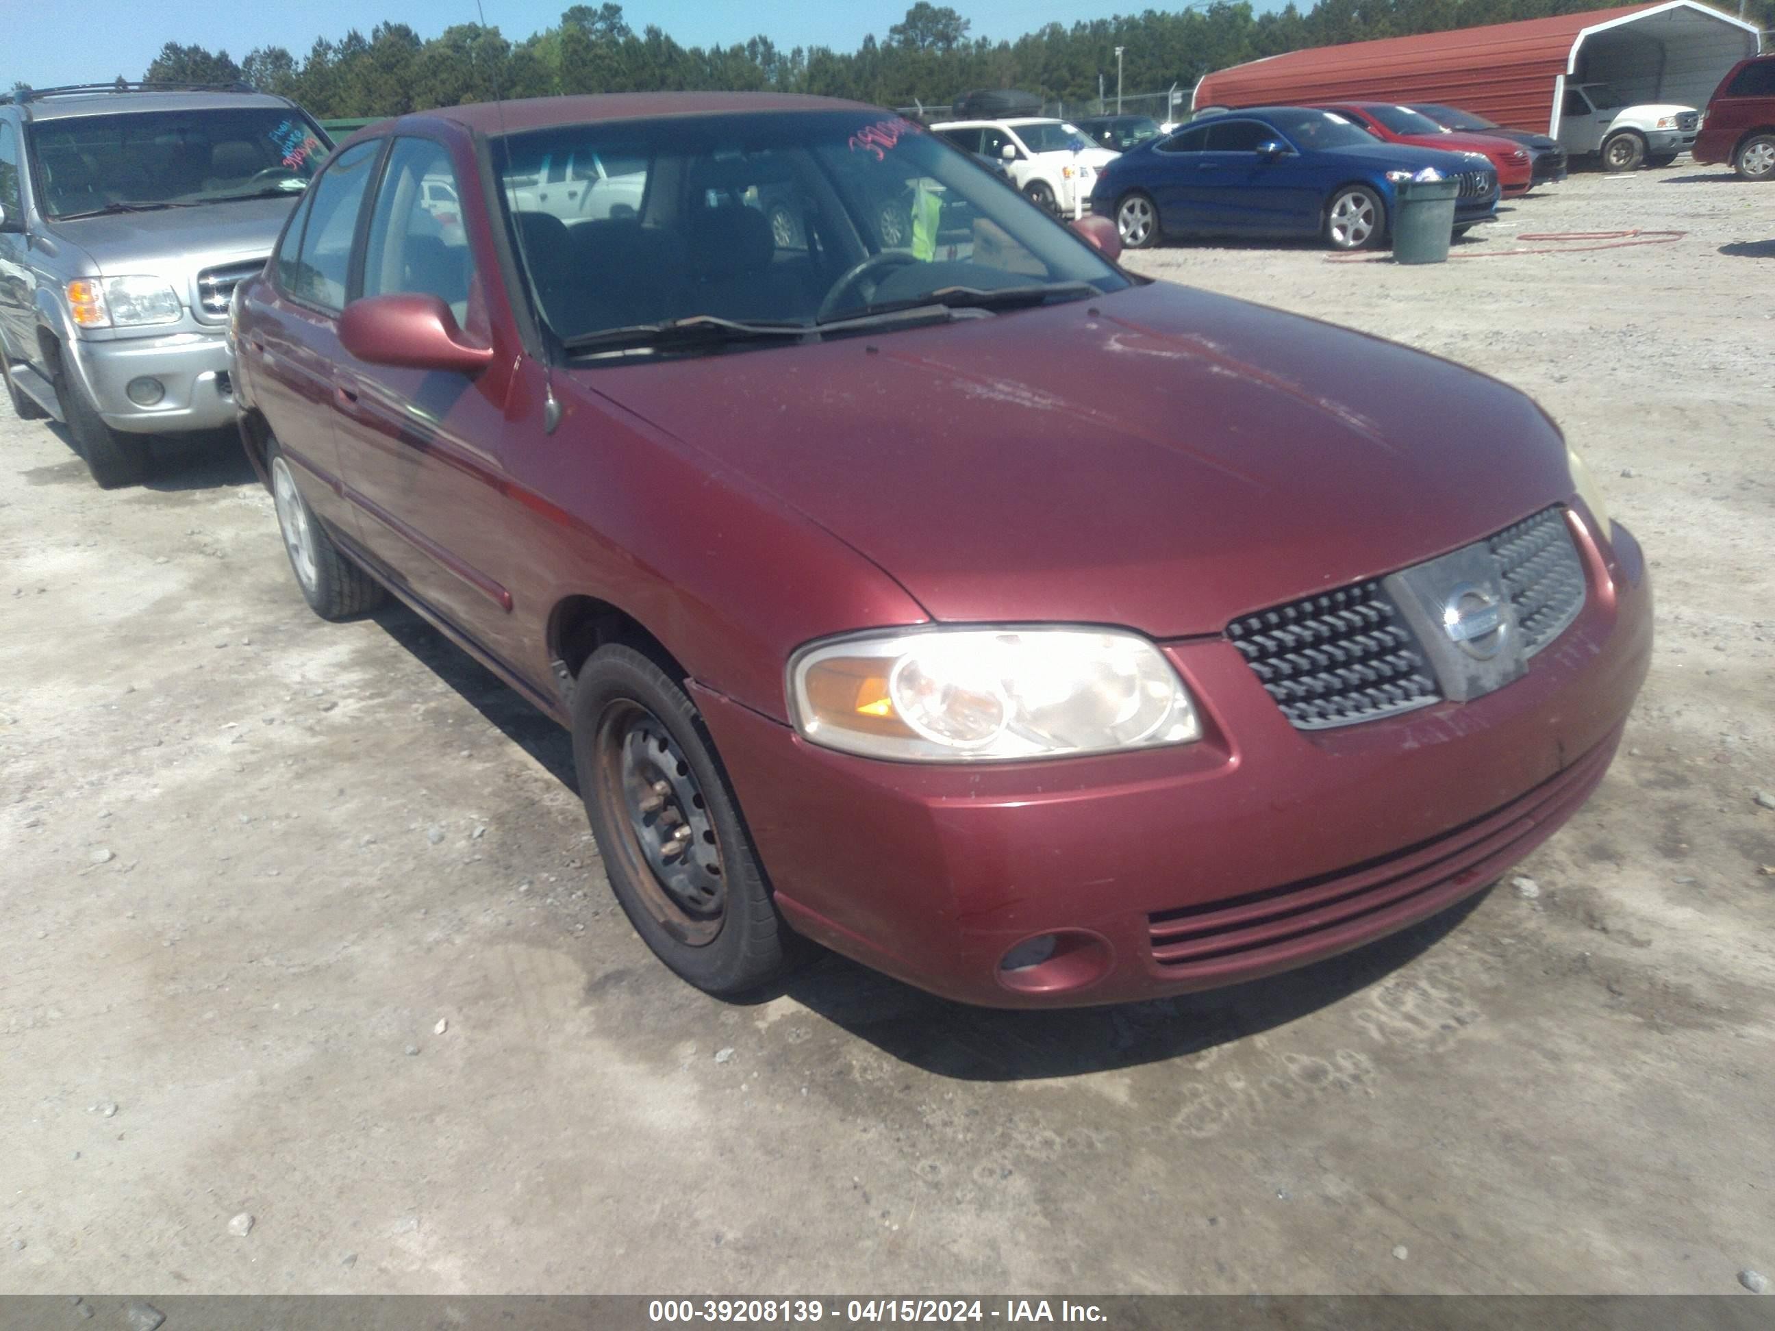
[[[1558,829],[1651,589],[1523,394],[1115,257],[850,103],[408,115],[236,293],[241,433],[316,612],[572,728],[689,981],[1225,985]]]

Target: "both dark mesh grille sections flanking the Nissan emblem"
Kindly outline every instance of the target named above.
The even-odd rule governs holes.
[[[1566,509],[1541,509],[1486,541],[1516,609],[1525,657],[1583,609],[1585,577]],[[1242,616],[1227,637],[1296,729],[1377,721],[1441,701],[1429,657],[1381,579]]]

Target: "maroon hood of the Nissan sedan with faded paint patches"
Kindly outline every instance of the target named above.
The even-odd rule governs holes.
[[[1163,282],[573,378],[948,621],[1218,634],[1571,492],[1560,435],[1523,394]]]

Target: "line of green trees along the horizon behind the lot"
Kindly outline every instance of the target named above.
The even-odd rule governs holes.
[[[969,35],[950,7],[918,0],[880,41],[854,51],[783,50],[758,35],[733,46],[682,46],[659,27],[635,32],[619,4],[573,5],[556,27],[509,41],[497,27],[458,23],[421,39],[405,23],[364,35],[320,37],[296,57],[261,46],[238,64],[225,50],[167,43],[146,80],[252,83],[321,117],[399,115],[431,106],[543,98],[563,92],[772,91],[852,98],[886,106],[944,106],[958,92],[1017,87],[1047,101],[1083,103],[1099,78],[1115,92],[1115,48],[1124,48],[1129,92],[1189,89],[1212,71],[1264,55],[1372,37],[1505,23],[1594,9],[1598,0],[1319,0],[1306,11],[1253,12],[1246,0],[1211,0],[1180,11],[1051,23],[1014,41]],[[1775,0],[1755,0],[1775,27]]]

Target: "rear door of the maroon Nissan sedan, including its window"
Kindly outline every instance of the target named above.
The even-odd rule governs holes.
[[[334,531],[357,539],[334,431],[334,366],[344,309],[351,240],[382,138],[355,144],[327,163],[289,218],[272,263],[272,282],[252,286],[240,355],[259,410],[293,463],[309,508]]]

